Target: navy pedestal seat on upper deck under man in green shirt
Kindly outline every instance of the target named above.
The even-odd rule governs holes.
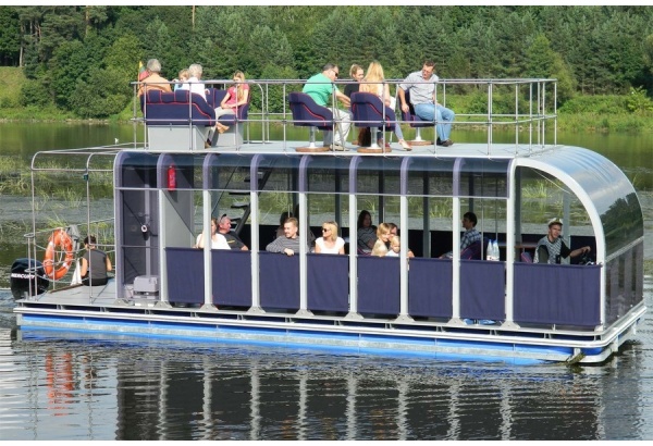
[[[295,126],[309,127],[309,145],[298,147],[295,150],[303,151],[329,151],[329,147],[316,145],[316,128],[321,131],[333,131],[333,112],[326,107],[318,106],[313,98],[305,92],[293,91],[288,94],[293,124]]]

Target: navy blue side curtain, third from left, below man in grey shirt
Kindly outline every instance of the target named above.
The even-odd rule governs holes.
[[[299,256],[259,253],[261,307],[299,309]]]

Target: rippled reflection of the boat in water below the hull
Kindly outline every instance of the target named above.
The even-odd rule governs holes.
[[[640,381],[614,385],[623,379],[618,359],[611,373],[592,367],[579,373],[565,366],[321,355],[303,348],[93,334],[70,343],[57,342],[48,332],[26,331],[22,336],[20,349],[30,356],[25,379],[35,393],[26,402],[33,416],[23,417],[21,432],[34,431],[36,438],[625,439],[642,435],[624,422],[624,414],[639,419]],[[47,369],[48,363],[52,368]],[[44,370],[48,371],[45,377]],[[52,423],[66,428],[52,429]]]

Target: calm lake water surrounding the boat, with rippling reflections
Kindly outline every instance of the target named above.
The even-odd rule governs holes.
[[[0,124],[0,154],[28,159],[38,149],[112,144],[133,133],[124,125],[48,126]],[[653,258],[651,137],[559,135],[558,141],[606,154],[634,182],[644,203],[645,256]],[[2,232],[15,210],[9,198],[0,195]],[[62,339],[59,333],[16,329],[5,288],[8,263],[24,256],[16,256],[14,245],[0,244],[4,441],[653,437],[651,312],[637,342],[591,367],[79,333]],[[644,295],[650,307],[652,277]]]

